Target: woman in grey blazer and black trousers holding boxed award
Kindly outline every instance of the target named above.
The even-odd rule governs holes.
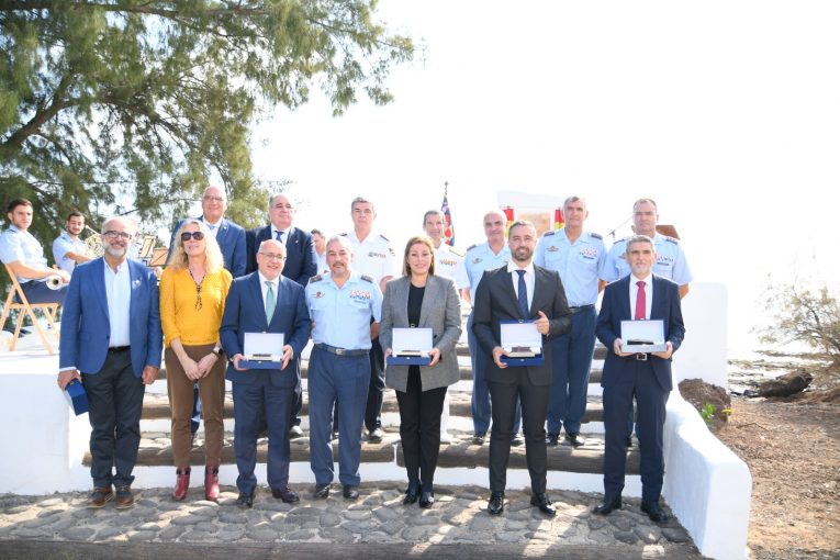
[[[403,504],[419,499],[419,506],[426,508],[435,503],[433,482],[444,397],[447,388],[459,379],[455,345],[461,336],[461,307],[455,283],[435,276],[435,246],[428,237],[408,239],[403,275],[385,287],[379,338],[385,356],[390,356],[394,328],[432,328],[428,366],[385,368],[385,385],[396,390],[400,405],[400,438],[408,474]]]

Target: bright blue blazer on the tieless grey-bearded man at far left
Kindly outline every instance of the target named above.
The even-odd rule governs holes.
[[[160,367],[164,333],[160,329],[157,278],[143,262],[128,259],[131,276],[130,327],[132,369],[141,377],[145,366]],[[97,373],[108,355],[111,322],[105,296],[103,257],[76,267],[61,314],[59,368],[75,366]]]

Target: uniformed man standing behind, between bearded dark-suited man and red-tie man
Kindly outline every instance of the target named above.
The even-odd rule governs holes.
[[[563,201],[565,226],[547,232],[537,244],[534,262],[560,273],[572,315],[572,329],[551,340],[553,383],[546,423],[547,444],[556,446],[560,429],[574,447],[585,441],[581,422],[586,413],[586,393],[595,348],[595,302],[598,275],[606,261],[606,249],[598,234],[584,232],[589,216],[586,201],[569,197]]]

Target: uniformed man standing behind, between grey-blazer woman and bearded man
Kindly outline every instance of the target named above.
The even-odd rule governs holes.
[[[458,267],[456,285],[469,287],[461,289],[461,298],[472,303],[475,300],[475,289],[485,270],[494,270],[507,266],[511,259],[511,248],[506,243],[507,217],[499,210],[492,210],[484,215],[484,236],[486,243],[473,245],[467,249],[460,266]],[[470,345],[470,360],[472,362],[472,426],[475,430],[473,443],[483,445],[490,429],[491,403],[490,390],[484,378],[488,357],[479,348],[479,341],[472,333],[472,317],[475,310],[470,312],[467,321],[467,344]],[[514,430],[516,434],[512,445],[520,446],[524,440],[518,436],[522,421],[522,408],[516,403],[514,417]]]

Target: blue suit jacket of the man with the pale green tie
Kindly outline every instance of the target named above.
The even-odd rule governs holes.
[[[277,306],[271,322],[266,320],[266,306],[259,273],[234,279],[225,300],[220,338],[227,356],[243,354],[245,333],[283,333],[285,344],[294,350],[294,358],[285,369],[254,369],[238,371],[233,363],[227,367],[227,379],[237,383],[262,382],[269,378],[279,388],[294,388],[300,383],[301,352],[310,338],[312,323],[306,309],[303,288],[280,276],[277,290]]]

